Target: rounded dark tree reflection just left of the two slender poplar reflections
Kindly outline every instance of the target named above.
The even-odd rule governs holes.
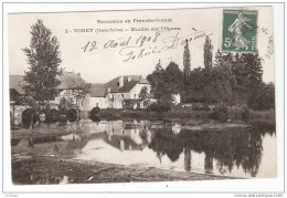
[[[171,161],[178,160],[179,155],[183,152],[180,139],[171,129],[156,131],[149,148],[157,152],[158,157],[167,154]]]

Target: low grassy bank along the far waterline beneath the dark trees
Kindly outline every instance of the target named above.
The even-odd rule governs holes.
[[[209,119],[211,117],[211,112],[209,111],[193,111],[189,108],[176,108],[169,112],[149,112],[146,110],[102,110],[100,118],[103,119],[167,119],[167,118],[200,118]],[[228,119],[272,119],[275,121],[274,111],[248,111],[248,115],[244,115],[244,111],[231,110],[227,112]],[[245,116],[245,117],[244,117]]]

